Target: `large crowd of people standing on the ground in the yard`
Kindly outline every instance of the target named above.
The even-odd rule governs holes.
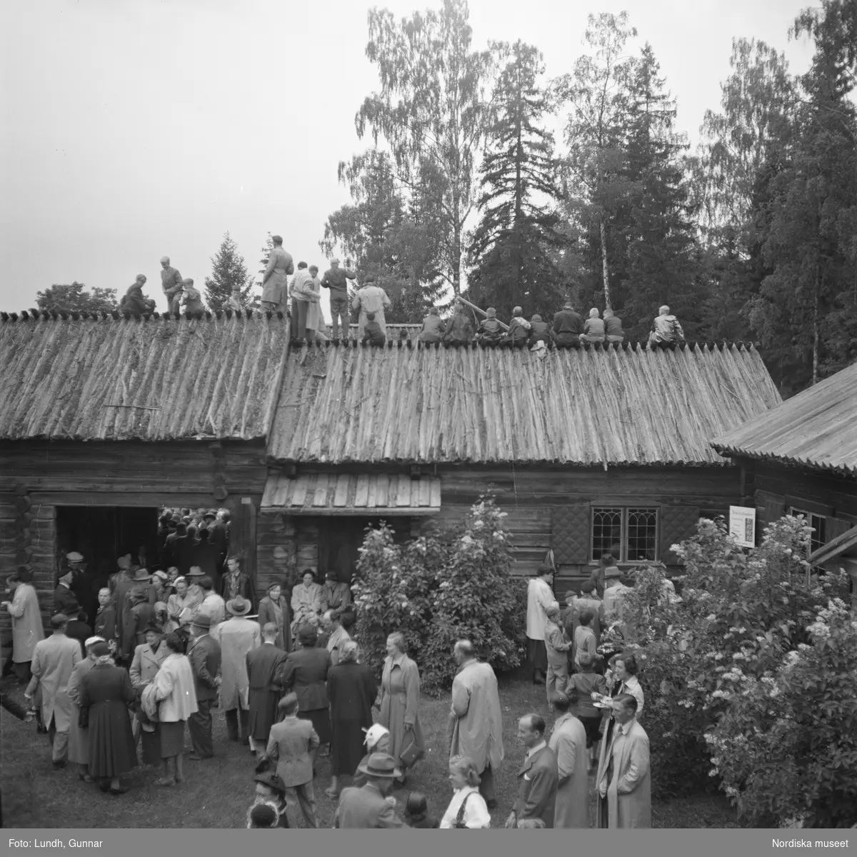
[[[15,672],[28,681],[26,696],[48,735],[54,766],[74,764],[82,782],[120,795],[128,791],[131,770],[151,765],[157,786],[176,788],[188,776],[186,759],[204,764],[213,758],[213,710],[219,708],[227,740],[244,743],[255,761],[249,826],[287,827],[291,805],[300,808],[304,824],[317,827],[321,755],[330,757],[325,790],[337,803],[334,826],[490,826],[505,756],[503,714],[494,670],[473,644],[459,640],[451,653],[458,672],[443,749],[452,800],[435,814],[419,792],[399,803],[393,792],[408,786],[428,750],[419,668],[404,635],[388,636],[387,657],[375,674],[354,638],[350,587],[333,572],[321,584],[305,570],[289,598],[285,581],[271,584],[258,605],[233,556],[219,582],[200,566],[180,573],[194,555],[181,541],[186,530],[205,525],[219,550],[215,533],[223,524],[228,545],[224,516],[182,512],[189,510],[165,510],[161,517],[159,557],[167,570],[149,571],[119,557],[99,590],[93,629],[58,612],[43,638],[32,584],[19,575],[8,579],[13,598],[3,606],[13,619]],[[207,541],[199,531],[196,536],[198,544]],[[74,614],[71,584],[85,563],[75,553],[68,560],[74,567],[58,585],[56,605]],[[173,561],[178,565],[169,565]],[[219,572],[217,561],[212,570]],[[543,566],[530,582],[527,635],[534,680],[546,685],[554,722],[549,728],[536,712],[518,718],[526,756],[505,826],[588,827],[593,773],[599,826],[649,826],[638,664],[620,652],[605,675],[597,663],[600,629],[620,615],[626,587],[619,569],[605,558],[580,596],[569,593],[565,612],[554,601],[551,578]],[[73,621],[83,628],[73,628]]]

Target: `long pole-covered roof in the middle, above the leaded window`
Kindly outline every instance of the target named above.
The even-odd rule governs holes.
[[[723,464],[710,440],[780,403],[752,346],[292,351],[278,462]]]

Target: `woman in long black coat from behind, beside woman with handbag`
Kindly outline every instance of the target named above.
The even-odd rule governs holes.
[[[327,796],[339,797],[340,779],[351,776],[363,758],[363,740],[372,726],[372,704],[378,685],[372,670],[357,663],[357,643],[346,640],[339,650],[339,663],[327,672],[330,700],[331,772],[333,782]]]

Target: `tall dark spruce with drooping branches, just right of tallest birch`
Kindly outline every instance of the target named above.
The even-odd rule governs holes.
[[[470,239],[470,300],[526,315],[557,309],[564,297],[560,270],[548,249],[563,242],[554,138],[545,128],[548,95],[539,86],[542,55],[518,40],[492,45],[505,62],[494,87],[494,122],[487,132],[479,208]]]

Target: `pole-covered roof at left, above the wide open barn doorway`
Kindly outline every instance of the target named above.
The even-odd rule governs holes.
[[[267,437],[288,320],[3,314],[0,439]]]

